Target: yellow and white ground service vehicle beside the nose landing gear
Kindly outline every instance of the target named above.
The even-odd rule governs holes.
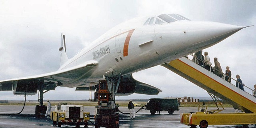
[[[82,105],[59,105],[55,106],[55,110],[51,112],[50,118],[53,125],[58,127],[61,124],[75,124],[76,128],[80,128],[80,123],[84,123],[84,127],[88,127],[90,120],[90,112],[84,112]]]

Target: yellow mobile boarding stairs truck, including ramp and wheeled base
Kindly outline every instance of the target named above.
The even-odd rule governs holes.
[[[190,82],[196,84],[206,90],[210,95],[214,95],[229,104],[234,108],[242,110],[243,114],[205,114],[205,112],[196,112],[193,114],[181,114],[181,123],[190,126],[199,125],[200,128],[207,128],[209,125],[216,124],[256,124],[256,98],[252,96],[252,89],[246,88],[248,92],[237,88],[234,84],[225,81],[216,76],[212,72],[206,70],[202,66],[182,57],[171,61],[170,63],[162,64],[172,72],[182,76]],[[234,80],[234,79],[233,79]],[[235,80],[234,80],[235,81]],[[235,120],[232,120],[234,118]],[[216,120],[220,119],[220,120]],[[227,120],[228,119],[228,120]]]

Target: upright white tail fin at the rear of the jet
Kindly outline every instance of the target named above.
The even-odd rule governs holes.
[[[61,47],[59,48],[60,51],[60,67],[68,61],[68,56],[66,54],[66,42],[65,42],[65,35],[61,33]]]

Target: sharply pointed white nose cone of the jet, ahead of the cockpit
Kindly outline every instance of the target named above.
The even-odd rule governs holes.
[[[218,22],[190,22],[188,40],[197,47],[207,48],[241,30],[242,26]]]

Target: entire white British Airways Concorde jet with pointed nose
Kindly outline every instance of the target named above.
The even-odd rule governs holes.
[[[39,90],[40,106],[43,94],[57,86],[88,90],[90,83],[103,79],[114,83],[115,96],[158,94],[160,89],[135,80],[132,73],[213,46],[242,28],[191,21],[179,14],[145,16],[115,26],[70,59],[61,34],[57,71],[1,80],[0,90],[12,90],[14,95],[34,95]]]

